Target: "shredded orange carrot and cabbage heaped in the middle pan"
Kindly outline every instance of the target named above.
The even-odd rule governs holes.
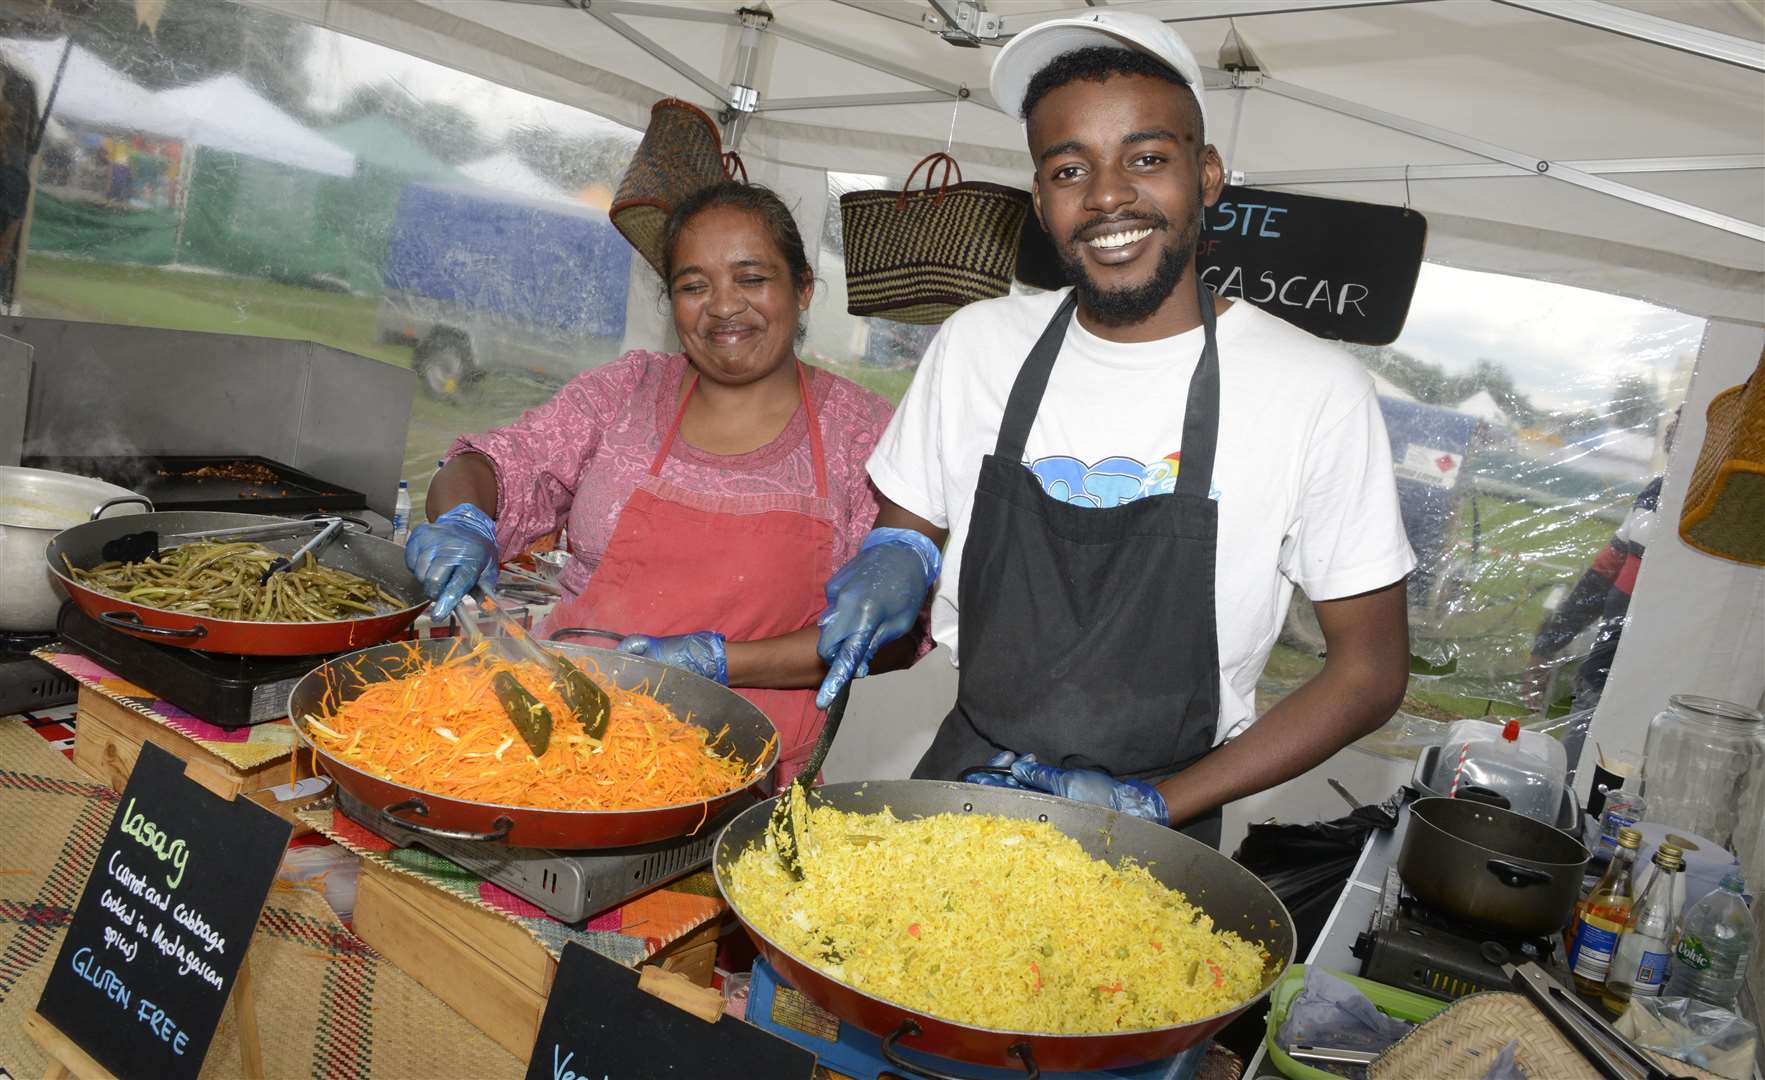
[[[478,803],[551,810],[639,810],[697,803],[745,787],[759,762],[722,745],[724,731],[685,724],[642,690],[625,690],[584,665],[612,704],[593,739],[572,718],[551,672],[478,648],[431,662],[411,649],[408,672],[371,683],[349,701],[328,692],[305,716],[312,741],[344,764],[394,784]],[[535,757],[496,699],[491,678],[510,671],[552,715]],[[766,754],[761,754],[761,761]]]

